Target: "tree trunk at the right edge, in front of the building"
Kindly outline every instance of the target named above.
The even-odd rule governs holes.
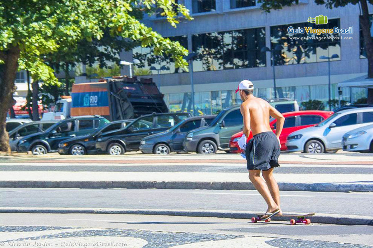
[[[373,40],[369,26],[369,10],[367,0],[360,0],[362,15],[360,26],[363,31],[364,46],[368,59],[368,78],[373,78]],[[373,90],[368,89],[368,103],[373,103]]]

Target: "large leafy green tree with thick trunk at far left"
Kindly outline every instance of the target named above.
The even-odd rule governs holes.
[[[0,151],[10,152],[5,119],[15,91],[16,71],[27,68],[33,78],[58,84],[53,69],[45,62],[48,54],[69,54],[67,51],[75,51],[78,42],[100,40],[108,30],[112,37],[152,45],[156,55],[171,55],[176,67],[187,68],[182,57],[188,51],[136,17],[140,12],[162,9],[170,25],[176,27],[179,20],[175,7],[184,18],[191,19],[189,10],[175,0],[0,1]]]

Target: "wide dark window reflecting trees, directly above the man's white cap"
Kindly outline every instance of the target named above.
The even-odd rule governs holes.
[[[266,66],[265,39],[264,28],[192,35],[193,71]]]

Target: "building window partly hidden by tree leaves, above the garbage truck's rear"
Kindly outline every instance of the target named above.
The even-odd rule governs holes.
[[[188,49],[188,36],[168,37],[171,41],[178,41],[180,45]],[[134,66],[135,75],[169,74],[184,72],[181,68],[175,68],[175,61],[170,55],[154,55],[153,47],[137,46],[132,49],[132,57],[140,60],[140,64]],[[151,70],[154,67],[156,70]],[[154,69],[152,68],[152,69]],[[162,70],[161,70],[162,68]]]

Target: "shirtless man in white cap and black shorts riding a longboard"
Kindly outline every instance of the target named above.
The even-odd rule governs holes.
[[[253,83],[243,80],[239,83],[236,93],[239,91],[242,99],[242,131],[246,137],[249,136],[250,130],[253,132],[253,139],[248,142],[245,150],[247,169],[251,182],[268,205],[267,212],[262,216],[262,220],[266,220],[276,214],[282,215],[279,187],[272,173],[274,167],[280,166],[279,137],[285,118],[267,101],[254,97],[253,90]],[[269,126],[269,116],[277,119],[276,134]],[[260,171],[265,181],[260,177]]]

